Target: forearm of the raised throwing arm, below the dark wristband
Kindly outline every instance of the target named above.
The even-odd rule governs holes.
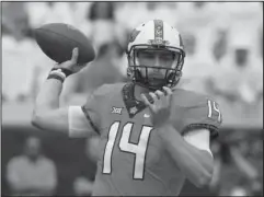
[[[42,113],[59,107],[62,83],[56,79],[46,80],[36,97],[34,113]]]

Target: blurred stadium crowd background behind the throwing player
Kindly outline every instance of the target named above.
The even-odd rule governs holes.
[[[162,19],[185,44],[179,85],[214,96],[223,115],[211,143],[210,186],[187,182],[182,195],[262,196],[262,2],[1,2],[1,9],[2,194],[89,195],[96,169],[96,137],[68,139],[31,126],[35,96],[55,63],[36,45],[34,28],[68,23],[92,40],[96,59],[62,90],[61,105],[72,105],[103,83],[126,81],[129,32]]]

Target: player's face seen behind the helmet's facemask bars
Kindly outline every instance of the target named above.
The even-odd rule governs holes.
[[[165,69],[162,68],[172,68],[176,54],[169,50],[139,50],[138,51],[138,61],[139,65],[148,68],[148,78],[164,79]],[[153,68],[156,67],[156,68]],[[146,70],[140,70],[144,78],[146,78]]]

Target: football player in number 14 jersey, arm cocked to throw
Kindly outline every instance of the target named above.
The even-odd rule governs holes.
[[[176,196],[186,178],[197,187],[210,182],[209,141],[221,114],[214,100],[176,88],[185,58],[176,28],[161,20],[135,28],[127,47],[131,81],[102,85],[82,106],[61,108],[64,80],[82,68],[77,57],[73,49],[50,71],[32,123],[70,137],[100,136],[94,196]]]

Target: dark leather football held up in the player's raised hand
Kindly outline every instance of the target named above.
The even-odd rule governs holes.
[[[70,60],[76,47],[79,48],[78,63],[88,63],[95,57],[91,40],[72,25],[45,24],[36,28],[34,35],[43,53],[58,63]]]

